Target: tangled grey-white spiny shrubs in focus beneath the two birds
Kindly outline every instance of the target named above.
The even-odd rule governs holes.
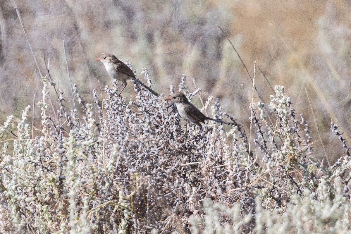
[[[193,99],[200,90],[190,93],[185,80],[179,90]],[[93,90],[95,103],[75,87],[84,114],[65,110],[60,90],[53,117],[42,82],[40,134],[33,139],[29,106],[0,128],[1,233],[350,231],[349,146],[332,123],[346,154],[319,167],[284,87],[268,105],[250,106],[252,136],[250,126],[224,131],[210,121],[193,139],[194,125],[137,85],[128,103],[115,82],[102,100]],[[219,99],[209,97],[208,108],[234,121]]]

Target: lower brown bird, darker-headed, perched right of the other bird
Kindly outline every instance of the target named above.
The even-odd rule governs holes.
[[[236,123],[226,122],[219,119],[212,119],[205,116],[198,108],[196,108],[196,106],[188,101],[184,93],[174,93],[171,96],[167,97],[166,100],[171,100],[176,104],[178,113],[181,117],[196,124],[200,128],[202,127],[200,123],[205,123],[205,120],[213,120],[231,126],[240,127],[240,125]]]

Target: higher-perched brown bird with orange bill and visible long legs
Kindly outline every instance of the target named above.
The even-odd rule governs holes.
[[[150,91],[153,95],[155,96],[160,96],[157,92],[153,91],[150,87],[147,87],[144,85],[140,80],[135,78],[135,75],[124,62],[121,60],[117,59],[116,56],[113,54],[104,54],[101,53],[102,55],[99,58],[96,58],[95,60],[101,61],[105,65],[105,69],[107,73],[113,78],[118,81],[121,81],[121,85],[118,86],[117,89],[119,89],[122,85],[124,87],[122,88],[122,91],[119,93],[121,94],[125,87],[127,86],[127,80],[133,80],[135,82],[140,83],[141,86],[146,88],[148,91]]]

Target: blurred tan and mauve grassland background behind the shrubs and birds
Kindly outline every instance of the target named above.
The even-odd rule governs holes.
[[[20,116],[39,100],[40,76],[13,0],[1,0],[0,112]],[[219,25],[229,36],[268,104],[272,86],[284,85],[297,113],[309,122],[318,157],[342,154],[330,132],[330,121],[350,133],[350,22],[346,0],[207,0],[207,1],[89,1],[16,0],[40,71],[47,74],[44,56],[58,88],[73,101],[64,55],[72,83],[92,101],[91,90],[111,85],[100,52],[129,60],[138,73],[150,69],[153,88],[169,94],[181,75],[187,85],[202,88],[201,96],[223,100],[223,107],[249,128],[252,83]],[[49,58],[48,58],[49,56]],[[143,75],[139,78],[143,80]],[[193,80],[194,81],[193,81]],[[194,85],[195,84],[195,85]],[[124,96],[133,98],[128,83]],[[55,94],[52,93],[53,100]],[[196,103],[200,107],[200,103]],[[300,120],[299,116],[296,116]],[[317,127],[318,126],[318,127]],[[301,126],[303,129],[303,126]],[[256,134],[254,134],[256,135]],[[340,151],[341,150],[341,151]]]

